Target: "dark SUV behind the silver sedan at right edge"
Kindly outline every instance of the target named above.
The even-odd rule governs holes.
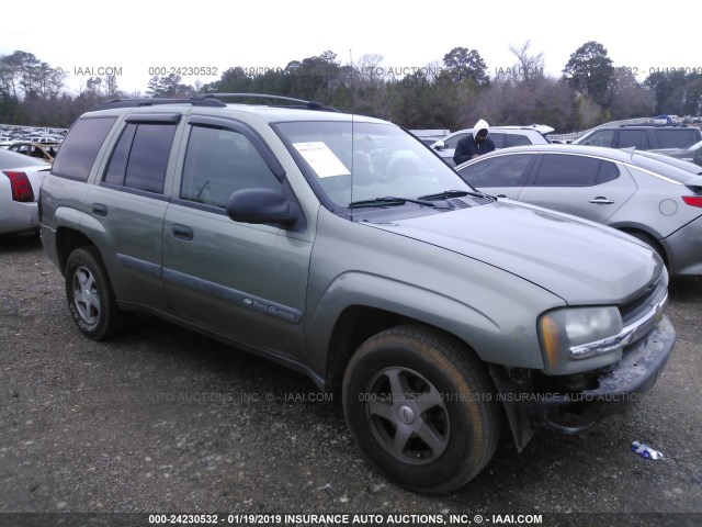
[[[702,139],[702,132],[684,124],[637,124],[615,128],[593,130],[573,142],[574,145],[608,146],[653,150],[659,148],[687,148]]]

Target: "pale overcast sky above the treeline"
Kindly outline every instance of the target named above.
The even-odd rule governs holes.
[[[73,91],[90,74],[114,68],[120,89],[145,92],[152,68],[276,68],[329,49],[342,64],[383,57],[386,70],[442,66],[454,47],[476,49],[495,77],[513,66],[510,44],[531,41],[544,54],[545,72],[559,76],[579,46],[602,44],[614,66],[700,68],[695,2],[353,0],[331,2],[71,2],[33,0],[4,10],[0,55],[21,49],[69,74]],[[100,5],[98,9],[97,5]],[[684,13],[689,15],[686,16]],[[38,18],[30,16],[32,13]],[[31,30],[26,24],[31,24]],[[687,25],[689,23],[689,25]],[[216,71],[215,71],[216,70]],[[161,70],[163,71],[163,70]],[[206,72],[206,70],[205,70]],[[193,83],[195,77],[184,77]]]

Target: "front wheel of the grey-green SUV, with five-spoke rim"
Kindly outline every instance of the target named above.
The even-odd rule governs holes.
[[[361,452],[398,484],[454,491],[491,459],[500,413],[485,365],[457,339],[398,326],[353,355],[343,411]]]

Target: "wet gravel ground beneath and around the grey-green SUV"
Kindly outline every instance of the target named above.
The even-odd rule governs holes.
[[[110,343],[86,339],[36,237],[0,240],[0,525],[90,523],[68,513],[702,525],[700,279],[671,282],[678,344],[632,412],[577,436],[540,433],[520,455],[502,441],[464,489],[426,496],[366,464],[339,402],[307,378],[148,316]],[[636,456],[633,440],[665,458]]]

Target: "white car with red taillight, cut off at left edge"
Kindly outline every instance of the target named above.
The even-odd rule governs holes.
[[[38,232],[39,189],[52,165],[0,149],[0,234]]]

